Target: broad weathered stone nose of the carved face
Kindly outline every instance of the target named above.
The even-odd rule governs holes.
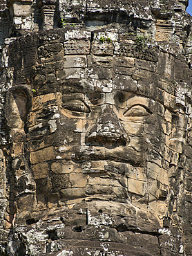
[[[118,147],[128,143],[128,136],[111,106],[99,113],[95,124],[86,133],[86,145]]]

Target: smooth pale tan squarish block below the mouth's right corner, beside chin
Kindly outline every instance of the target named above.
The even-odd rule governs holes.
[[[128,192],[144,196],[146,192],[146,182],[128,179]]]

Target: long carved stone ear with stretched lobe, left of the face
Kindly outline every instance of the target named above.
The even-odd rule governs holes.
[[[17,211],[31,212],[35,207],[36,184],[33,179],[30,167],[25,154],[26,141],[26,120],[31,106],[31,93],[27,86],[13,86],[6,95],[5,116],[6,125],[10,129],[10,150],[9,164],[14,173],[13,191],[11,196],[14,198]]]

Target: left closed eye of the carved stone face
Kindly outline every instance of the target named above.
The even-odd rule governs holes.
[[[64,109],[68,109],[75,112],[90,112],[89,107],[81,100],[70,100],[68,102],[65,102],[65,104],[63,104],[63,107]]]

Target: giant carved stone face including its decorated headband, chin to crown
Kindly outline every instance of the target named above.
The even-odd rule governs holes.
[[[152,46],[147,55],[141,52],[145,60],[138,59],[137,46],[131,57],[112,56],[113,42],[99,42],[99,34],[90,52],[89,33],[74,34],[76,41],[66,33],[64,46],[52,39],[35,52],[32,107],[27,116],[18,113],[37,209],[95,197],[131,203],[162,218],[187,118],[184,91],[172,80],[175,63],[165,53],[157,58]],[[18,90],[13,98],[25,108],[26,92]]]

